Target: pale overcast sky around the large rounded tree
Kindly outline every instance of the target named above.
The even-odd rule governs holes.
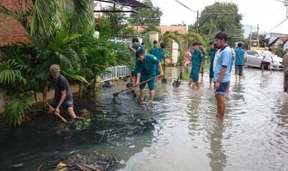
[[[215,2],[215,0],[179,1],[194,11],[202,11],[206,5]],[[177,24],[182,23],[182,21],[187,24],[192,24],[196,21],[197,14],[178,4],[175,0],[152,0],[152,2],[155,6],[160,7],[163,12],[161,25]],[[238,4],[239,13],[243,14],[241,23],[253,25],[253,31],[257,31],[257,24],[259,24],[260,32],[269,32],[286,18],[286,7],[284,3],[276,0],[218,0],[218,2],[233,2]],[[286,29],[283,29],[284,25],[286,25]],[[249,31],[249,28],[247,27],[245,30]],[[275,29],[275,31],[284,30],[288,33],[288,21]]]

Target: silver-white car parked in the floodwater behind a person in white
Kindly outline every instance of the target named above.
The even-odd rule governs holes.
[[[247,50],[246,51],[247,61],[245,63],[245,66],[261,68],[264,51],[265,50]],[[283,69],[282,58],[273,56],[273,61],[274,61],[273,63],[271,61],[272,69],[279,69],[279,70]]]

